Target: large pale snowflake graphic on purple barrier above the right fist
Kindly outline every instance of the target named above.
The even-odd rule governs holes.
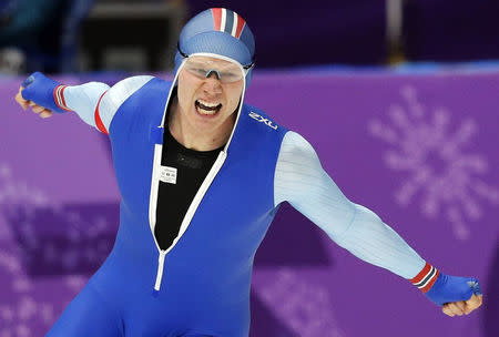
[[[419,192],[425,216],[444,216],[458,239],[468,239],[469,222],[480,219],[483,213],[480,201],[499,204],[499,190],[480,177],[489,170],[487,159],[467,151],[478,123],[467,118],[452,131],[451,124],[457,122],[447,109],[427,109],[409,85],[403,86],[400,94],[405,106],[389,106],[390,123],[377,119],[368,123],[375,137],[391,145],[384,153],[386,165],[408,174],[395,200],[407,206]]]

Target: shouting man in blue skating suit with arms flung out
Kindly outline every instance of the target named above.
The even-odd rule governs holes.
[[[122,197],[110,256],[47,336],[247,336],[253,258],[283,202],[445,314],[481,305],[476,279],[422,259],[345,197],[302,135],[244,103],[254,50],[244,19],[213,8],[182,30],[172,82],[67,86],[34,73],[21,85],[22,108],[109,134]]]

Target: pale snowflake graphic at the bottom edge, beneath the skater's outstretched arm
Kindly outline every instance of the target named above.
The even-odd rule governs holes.
[[[344,337],[326,287],[308,284],[296,272],[281,268],[274,282],[257,288],[276,316],[302,337]]]

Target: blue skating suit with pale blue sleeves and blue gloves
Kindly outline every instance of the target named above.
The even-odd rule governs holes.
[[[162,251],[154,226],[172,83],[136,76],[109,89],[94,82],[64,86],[40,75],[30,81],[24,99],[75,111],[109,133],[122,196],[110,256],[47,336],[246,337],[253,258],[282,202],[439,305],[479,294],[476,280],[439,273],[370,210],[346,198],[306,140],[247,104],[179,236]]]

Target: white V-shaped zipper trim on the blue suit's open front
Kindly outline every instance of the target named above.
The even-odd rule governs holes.
[[[225,159],[227,157],[227,154],[225,151],[222,151],[215,163],[213,164],[212,168],[210,170],[208,174],[204,178],[203,183],[201,184],[200,190],[197,191],[196,195],[194,196],[191,205],[187,208],[187,212],[185,213],[184,218],[182,219],[182,224],[179,231],[179,235],[173,241],[172,245],[167,249],[161,249],[160,245],[157,244],[156,236],[154,235],[154,226],[156,223],[156,206],[157,206],[157,192],[160,187],[160,180],[159,180],[159,171],[161,167],[161,154],[162,154],[162,144],[155,144],[154,145],[154,160],[153,160],[153,172],[152,172],[152,182],[151,182],[151,195],[150,195],[150,204],[149,204],[149,223],[150,228],[154,238],[154,244],[156,245],[157,252],[160,254],[157,258],[157,273],[156,273],[156,282],[154,284],[154,290],[159,292],[161,287],[161,280],[163,278],[163,269],[164,269],[164,259],[166,257],[166,254],[173,249],[173,247],[176,245],[179,239],[182,237],[182,235],[187,229],[189,225],[191,224],[191,221],[203,200],[204,195],[206,194],[207,188],[212,184],[213,180],[215,178],[216,174],[218,173],[220,168],[225,162]]]

